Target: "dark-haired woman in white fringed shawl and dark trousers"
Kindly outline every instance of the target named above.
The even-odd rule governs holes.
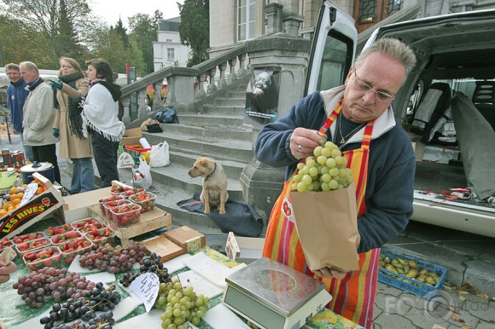
[[[86,64],[89,93],[81,112],[82,133],[91,133],[102,187],[109,187],[112,180],[118,180],[118,144],[125,133],[125,125],[118,120],[120,86],[114,84],[111,67],[105,59],[91,59]]]

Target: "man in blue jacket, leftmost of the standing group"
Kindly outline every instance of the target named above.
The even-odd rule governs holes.
[[[7,87],[7,105],[10,109],[10,121],[12,121],[14,130],[19,133],[21,142],[24,144],[22,138],[22,119],[24,118],[22,108],[24,107],[24,102],[26,102],[29,91],[26,89],[26,82],[24,79],[21,79],[19,65],[14,63],[7,64],[5,66],[5,71],[10,79],[10,86]],[[23,146],[24,158],[33,162],[33,149],[25,144]]]

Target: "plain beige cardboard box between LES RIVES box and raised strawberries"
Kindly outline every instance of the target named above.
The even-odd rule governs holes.
[[[66,223],[89,217],[88,207],[98,203],[98,199],[111,196],[109,187],[64,197],[64,217]]]

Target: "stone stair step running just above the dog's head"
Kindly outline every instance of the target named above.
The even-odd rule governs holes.
[[[145,133],[150,144],[159,144],[164,140],[171,151],[185,151],[197,156],[210,156],[215,160],[235,160],[248,163],[254,156],[252,142],[225,138],[203,138],[177,133]]]

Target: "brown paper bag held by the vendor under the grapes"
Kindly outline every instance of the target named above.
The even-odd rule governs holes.
[[[346,189],[289,193],[307,265],[349,272],[359,270],[354,182]]]

